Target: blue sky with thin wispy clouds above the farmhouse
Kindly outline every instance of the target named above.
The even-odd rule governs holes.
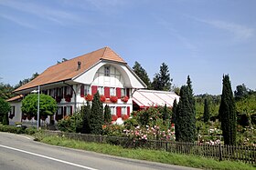
[[[62,58],[110,46],[152,79],[165,62],[173,84],[190,75],[195,94],[256,89],[254,0],[0,0],[0,77],[42,73]]]

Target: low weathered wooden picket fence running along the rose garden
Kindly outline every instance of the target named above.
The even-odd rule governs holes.
[[[200,155],[208,158],[230,161],[240,161],[252,165],[256,165],[256,147],[242,145],[208,145],[187,142],[172,142],[163,140],[136,140],[128,137],[116,137],[106,135],[85,135],[76,133],[63,133],[56,131],[45,131],[45,135],[59,135],[70,139],[104,143],[112,145],[122,145],[130,148],[148,148],[155,150],[165,150],[167,152],[184,154],[184,155]]]

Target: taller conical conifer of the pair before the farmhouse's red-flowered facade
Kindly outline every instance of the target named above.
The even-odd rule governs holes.
[[[99,92],[93,96],[90,115],[91,134],[101,135],[103,125],[103,106]]]

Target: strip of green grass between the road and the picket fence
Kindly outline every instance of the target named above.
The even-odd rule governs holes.
[[[38,138],[37,138],[38,139]],[[183,165],[201,169],[241,169],[255,170],[255,166],[240,162],[216,161],[205,157],[195,155],[177,155],[165,151],[156,151],[148,149],[129,149],[119,145],[86,143],[82,141],[71,140],[59,136],[40,136],[40,142],[50,145],[60,145],[70,148],[83,149],[101,154],[116,155],[133,159],[147,160],[152,162],[164,163],[169,165]]]

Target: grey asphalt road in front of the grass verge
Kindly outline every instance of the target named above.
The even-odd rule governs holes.
[[[88,151],[46,145],[31,136],[0,133],[0,170],[173,169],[188,167],[139,161]]]

